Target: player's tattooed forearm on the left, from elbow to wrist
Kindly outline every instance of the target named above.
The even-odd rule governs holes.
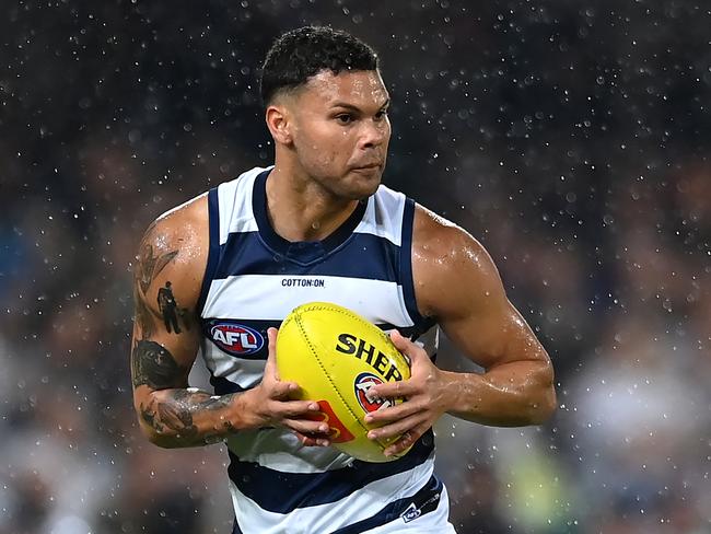
[[[212,396],[197,388],[153,391],[137,406],[151,442],[164,448],[199,446],[241,429],[235,416],[240,394]]]

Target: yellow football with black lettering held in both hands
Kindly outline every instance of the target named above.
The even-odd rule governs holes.
[[[358,460],[388,462],[383,451],[397,438],[370,440],[364,417],[401,398],[373,398],[375,384],[410,378],[410,367],[389,336],[357,313],[330,302],[310,302],[284,318],[277,336],[279,378],[316,400],[331,444]],[[398,454],[403,456],[407,451]]]

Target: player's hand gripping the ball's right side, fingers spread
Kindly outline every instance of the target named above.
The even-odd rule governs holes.
[[[380,398],[405,397],[407,402],[365,416],[365,422],[383,425],[368,432],[371,440],[401,434],[385,449],[386,456],[403,452],[419,440],[448,409],[448,396],[452,394],[446,373],[432,363],[424,349],[397,330],[391,333],[391,339],[410,359],[410,379],[374,385],[369,395]]]

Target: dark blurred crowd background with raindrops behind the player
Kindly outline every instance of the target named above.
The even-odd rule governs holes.
[[[549,423],[438,425],[457,532],[711,532],[707,3],[10,3],[0,534],[230,532],[221,445],[138,431],[131,268],[156,216],[270,163],[257,67],[307,23],[378,50],[385,183],[485,244],[555,363]]]

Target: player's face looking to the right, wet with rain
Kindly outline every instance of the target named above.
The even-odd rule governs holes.
[[[330,194],[365,198],[385,169],[389,96],[377,71],[322,71],[293,100],[293,150],[304,173]]]

